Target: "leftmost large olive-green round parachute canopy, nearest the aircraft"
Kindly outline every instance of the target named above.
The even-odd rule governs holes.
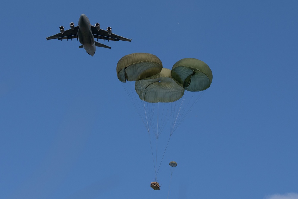
[[[136,81],[156,75],[162,70],[162,61],[150,53],[132,53],[122,57],[116,67],[122,82]]]

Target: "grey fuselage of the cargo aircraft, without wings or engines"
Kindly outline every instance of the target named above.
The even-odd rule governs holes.
[[[90,21],[84,14],[81,14],[79,18],[79,30],[77,36],[86,52],[93,56],[96,50],[94,36],[92,34]]]

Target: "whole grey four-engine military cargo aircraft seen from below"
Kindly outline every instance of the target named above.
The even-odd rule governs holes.
[[[79,46],[79,48],[84,48],[86,52],[93,56],[96,50],[96,46],[98,47],[104,47],[104,48],[111,48],[109,46],[106,46],[104,44],[96,42],[94,39],[103,39],[103,41],[131,41],[131,39],[124,38],[119,35],[115,35],[112,33],[112,28],[107,27],[107,30],[100,29],[100,24],[96,23],[95,26],[90,24],[90,21],[88,17],[84,14],[81,14],[79,18],[79,26],[75,26],[73,22],[70,24],[69,30],[64,30],[63,26],[60,26],[60,33],[47,37],[46,40],[49,39],[66,39],[66,40],[72,40],[77,39],[82,44]]]

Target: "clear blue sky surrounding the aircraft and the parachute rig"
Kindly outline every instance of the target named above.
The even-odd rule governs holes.
[[[2,2],[0,198],[297,199],[297,10],[296,0]],[[111,49],[91,57],[76,40],[46,40],[82,13],[132,42],[99,41]],[[171,136],[160,191],[116,75],[136,52],[213,72]],[[168,138],[165,128],[158,161]]]

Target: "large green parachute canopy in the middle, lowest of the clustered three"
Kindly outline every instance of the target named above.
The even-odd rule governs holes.
[[[150,103],[174,102],[184,94],[184,88],[176,83],[171,70],[167,68],[149,78],[136,81],[135,89],[141,100]]]

